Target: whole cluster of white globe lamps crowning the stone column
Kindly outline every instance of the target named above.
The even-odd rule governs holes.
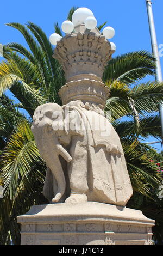
[[[74,27],[77,27],[78,25],[84,23],[85,27],[89,30],[96,28],[97,26],[97,20],[94,17],[92,11],[90,9],[87,9],[85,7],[78,8],[76,11],[74,11],[72,15],[72,21],[64,21],[62,22],[61,28],[62,31],[66,34],[74,32]],[[103,29],[102,34],[105,36],[106,39],[111,39],[115,35],[115,30],[112,27],[105,27]],[[57,45],[57,42],[61,40],[61,36],[57,33],[53,33],[49,37],[49,41],[52,45]],[[110,42],[111,49],[116,50],[116,45],[114,42]]]

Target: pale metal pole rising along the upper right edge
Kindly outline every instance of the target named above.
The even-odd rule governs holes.
[[[158,82],[162,82],[161,64],[160,64],[160,57],[159,57],[159,51],[158,51],[158,42],[156,39],[151,0],[146,0],[146,4],[147,4],[147,13],[148,13],[148,21],[149,21],[149,30],[151,34],[152,52],[153,52],[153,56],[156,59],[155,80]],[[161,120],[161,139],[163,139],[163,106],[159,107],[159,112],[160,112],[160,120]]]

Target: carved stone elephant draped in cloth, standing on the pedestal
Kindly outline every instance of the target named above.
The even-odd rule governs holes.
[[[36,108],[33,120],[36,145],[48,167],[43,193],[49,201],[126,205],[133,194],[126,161],[101,105],[46,103]]]

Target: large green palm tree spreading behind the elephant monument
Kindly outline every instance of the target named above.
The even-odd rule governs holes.
[[[67,19],[71,20],[75,9],[70,10]],[[10,43],[4,46],[5,60],[0,63],[0,185],[4,186],[4,198],[0,200],[0,244],[9,244],[11,239],[18,244],[20,227],[16,216],[34,204],[47,203],[42,195],[45,163],[30,130],[32,116],[34,109],[43,103],[61,105],[58,90],[65,84],[65,77],[61,65],[52,58],[54,49],[39,26],[32,22],[26,26],[15,22],[7,25],[22,33],[30,49]],[[55,32],[61,34],[58,23]],[[152,191],[158,189],[162,180],[155,164],[149,161],[150,147],[141,143],[142,138],[161,136],[158,105],[163,96],[162,83],[138,84],[154,72],[153,56],[139,51],[112,59],[103,75],[103,81],[111,89],[105,111],[111,112],[112,125],[120,135],[134,188],[131,206],[137,197],[154,200]],[[20,103],[15,105],[6,96],[7,89]],[[21,108],[26,115],[20,112]]]

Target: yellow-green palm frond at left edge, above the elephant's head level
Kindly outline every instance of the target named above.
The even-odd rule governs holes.
[[[24,108],[33,114],[34,109],[46,101],[39,83],[40,75],[28,60],[21,59],[16,53],[8,55],[8,60],[0,63],[0,93],[10,89],[23,103]],[[27,107],[28,106],[28,107]]]

